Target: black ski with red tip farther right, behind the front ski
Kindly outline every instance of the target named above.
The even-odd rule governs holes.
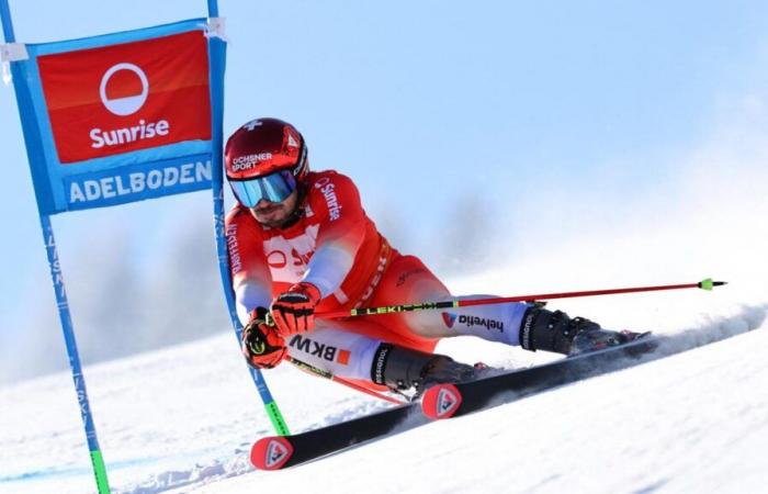
[[[443,419],[510,403],[555,386],[659,358],[662,355],[655,355],[655,350],[666,339],[648,335],[615,347],[476,381],[437,384],[425,392],[421,411],[430,419]]]

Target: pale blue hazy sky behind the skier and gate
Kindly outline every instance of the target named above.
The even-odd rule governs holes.
[[[205,8],[11,1],[19,42],[205,16]],[[510,260],[557,266],[551,252],[598,236],[599,251],[545,270],[537,288],[601,288],[628,262],[647,263],[642,283],[697,281],[709,276],[699,266],[748,277],[729,260],[768,246],[758,224],[767,10],[758,1],[222,0],[224,132],[257,116],[294,123],[310,166],[352,177],[392,243],[447,279]],[[3,382],[67,361],[11,87],[0,87],[0,115]],[[86,363],[227,330],[210,194],[118,207],[54,217]],[[701,237],[665,252],[657,234],[674,235],[680,222]],[[479,290],[528,283],[505,278]]]

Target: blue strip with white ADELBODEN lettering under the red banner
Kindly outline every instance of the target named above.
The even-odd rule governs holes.
[[[188,162],[176,167],[134,171],[127,175],[72,182],[69,186],[69,202],[71,204],[113,199],[121,195],[143,193],[147,190],[210,181],[211,179],[211,161]]]

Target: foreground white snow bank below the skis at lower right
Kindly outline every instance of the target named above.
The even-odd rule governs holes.
[[[765,385],[768,364],[742,366],[737,357],[745,345],[759,350],[767,340],[764,332],[739,339],[432,424],[282,475],[245,475],[227,492],[309,483],[317,492],[361,492],[382,465],[396,474],[374,484],[376,492],[759,492],[766,398],[745,390]]]

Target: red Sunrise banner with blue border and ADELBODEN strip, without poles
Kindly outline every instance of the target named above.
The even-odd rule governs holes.
[[[42,214],[212,188],[206,21],[25,45],[20,109]]]

